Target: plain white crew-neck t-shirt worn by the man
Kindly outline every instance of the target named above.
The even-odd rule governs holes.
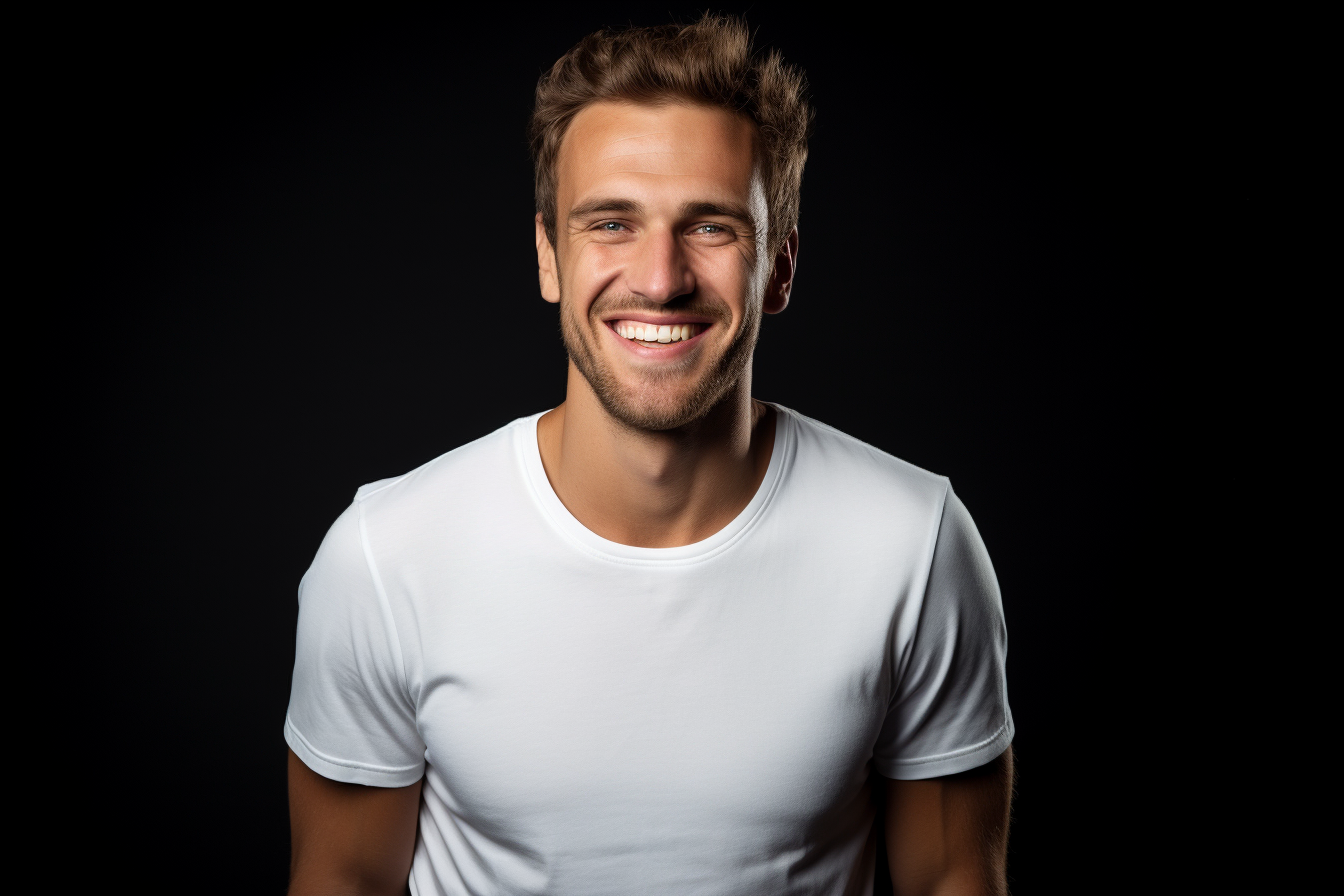
[[[423,775],[411,892],[870,893],[870,770],[1012,740],[993,568],[948,480],[778,408],[720,532],[607,541],[536,419],[366,485],[300,586],[285,739]]]

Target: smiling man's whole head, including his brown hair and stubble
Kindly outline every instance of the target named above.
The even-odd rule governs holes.
[[[683,426],[741,380],[788,302],[809,122],[801,74],[726,19],[597,32],[542,78],[542,292],[618,420]]]

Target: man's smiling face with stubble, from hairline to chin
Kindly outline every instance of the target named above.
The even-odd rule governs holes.
[[[538,224],[543,296],[629,426],[696,420],[750,367],[773,267],[753,145],[747,120],[681,103],[594,103],[564,136],[550,285]]]

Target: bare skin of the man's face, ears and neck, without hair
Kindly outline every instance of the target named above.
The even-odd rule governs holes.
[[[774,412],[751,400],[763,313],[789,302],[797,231],[767,243],[751,124],[722,109],[585,107],[558,160],[556,246],[535,220],[542,297],[559,302],[566,400],[538,423],[556,496],[636,547],[700,541],[765,477]],[[695,320],[692,343],[634,349],[609,322]]]

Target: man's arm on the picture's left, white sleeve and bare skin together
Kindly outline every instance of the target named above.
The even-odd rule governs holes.
[[[425,744],[358,504],[300,586],[285,740],[290,893],[403,893]]]

